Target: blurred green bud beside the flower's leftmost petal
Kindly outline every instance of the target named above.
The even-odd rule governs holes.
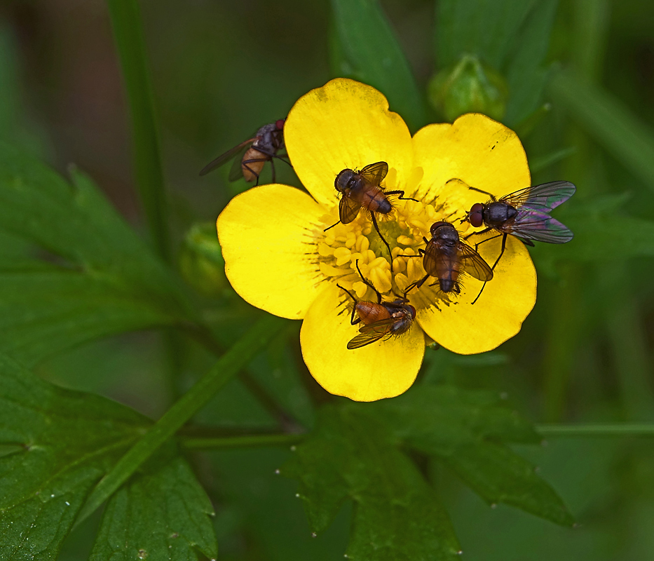
[[[184,236],[179,269],[189,285],[200,294],[216,297],[227,285],[216,227],[210,222],[193,224]]]

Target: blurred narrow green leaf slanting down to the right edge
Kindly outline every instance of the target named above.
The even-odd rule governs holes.
[[[654,131],[605,90],[561,72],[549,88],[552,99],[571,119],[618,158],[629,171],[654,189]]]

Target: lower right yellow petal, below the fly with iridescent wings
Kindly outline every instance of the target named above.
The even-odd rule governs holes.
[[[478,237],[479,240],[490,234]],[[501,237],[479,245],[479,254],[491,266],[500,255]],[[475,243],[477,243],[476,241]],[[536,270],[524,244],[507,237],[506,250],[493,279],[475,304],[483,283],[466,275],[461,295],[449,306],[440,304],[418,310],[418,323],[437,343],[459,354],[483,353],[495,349],[519,332],[522,322],[536,304]]]

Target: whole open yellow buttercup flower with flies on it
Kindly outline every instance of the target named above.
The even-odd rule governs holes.
[[[425,275],[423,236],[433,222],[452,222],[461,236],[474,231],[459,220],[486,197],[468,186],[502,196],[531,184],[517,135],[481,114],[454,125],[428,125],[411,138],[399,115],[388,111],[379,91],[335,79],[301,97],[284,128],[295,172],[311,194],[272,184],[233,198],[218,217],[226,276],[253,306],[277,316],[303,319],[300,343],[313,377],[327,391],[357,401],[400,395],[411,386],[425,353],[425,334],[456,353],[482,353],[519,332],[536,302],[536,271],[529,252],[512,236],[493,280],[472,305],[482,282],[463,276],[461,295],[430,288],[429,280],[409,293],[417,316],[400,337],[349,350],[357,334],[350,325],[352,300],[376,302],[356,270],[382,292],[384,302]],[[379,228],[393,252],[393,273],[386,246],[365,210],[350,224],[338,224],[339,193],[334,178],[345,168],[361,169],[386,161],[386,190],[402,189],[420,202],[393,199]],[[480,229],[477,229],[480,230]],[[478,242],[485,236],[474,236]],[[493,264],[500,238],[479,246]]]

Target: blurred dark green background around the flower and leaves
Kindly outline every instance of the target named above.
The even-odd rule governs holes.
[[[226,182],[228,169],[200,178],[200,168],[261,124],[285,116],[309,89],[348,71],[343,53],[334,48],[339,22],[332,11],[338,4],[140,3],[175,255],[184,250],[193,224],[214,222],[229,198],[248,187]],[[490,5],[478,4],[480,12]],[[654,421],[654,4],[524,4],[549,4],[538,17],[542,22],[549,9],[552,27],[541,26],[544,34],[535,39],[543,60],[537,68],[521,69],[520,45],[493,55],[493,43],[486,41],[476,54],[491,76],[484,95],[495,101],[487,111],[521,135],[534,184],[565,179],[578,186],[555,213],[577,237],[569,247],[534,248],[538,302],[517,337],[477,357],[428,351],[418,383],[448,381],[501,392],[536,423]],[[428,92],[437,97],[430,81],[438,72],[447,76],[459,60],[461,53],[448,53],[447,46],[464,37],[474,49],[484,44],[479,36],[492,38],[498,30],[483,21],[476,28],[445,29],[433,1],[382,1],[381,7],[423,96],[424,107],[412,109],[411,126],[441,121],[448,111],[456,114],[470,100],[459,96],[445,108],[442,102],[428,103]],[[356,70],[349,74],[357,76]],[[493,89],[493,83],[500,87]],[[520,93],[521,86],[526,93]],[[515,102],[518,95],[523,105]],[[391,109],[404,115],[392,99]],[[123,81],[101,1],[2,1],[0,138],[61,173],[76,163],[132,225],[146,231],[134,187]],[[278,181],[299,185],[285,166],[278,166]],[[216,292],[202,298],[203,310],[229,343],[233,326],[248,325],[254,312],[216,282]],[[311,426],[313,404],[329,396],[301,363],[298,331],[299,323],[289,323],[252,375]],[[161,337],[143,332],[87,344],[46,360],[37,372],[158,417],[214,360],[186,341],[179,342],[179,356],[179,375],[171,379]],[[203,410],[201,420],[224,428],[273,425],[269,412],[238,380]],[[653,557],[650,438],[550,438],[547,446],[520,452],[540,467],[578,527],[557,527],[507,506],[489,508],[454,475],[428,466],[465,559]],[[313,539],[294,499],[296,484],[274,473],[288,454],[271,448],[193,457],[217,510],[222,559],[342,557],[350,507]],[[97,523],[91,518],[76,529],[61,559],[86,559]]]

